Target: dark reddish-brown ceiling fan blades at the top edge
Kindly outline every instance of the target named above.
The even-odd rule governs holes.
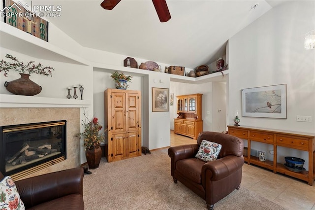
[[[121,0],[103,0],[100,5],[104,9],[112,10],[120,1]],[[152,0],[152,2],[156,8],[160,22],[167,22],[171,19],[166,0]]]

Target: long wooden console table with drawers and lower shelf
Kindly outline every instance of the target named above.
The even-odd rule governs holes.
[[[302,132],[289,132],[276,129],[262,129],[250,126],[227,126],[228,134],[240,139],[248,140],[248,155],[244,157],[248,164],[254,164],[274,173],[289,175],[304,181],[313,186],[315,179],[315,134]],[[258,157],[251,155],[251,141],[272,144],[274,148],[273,161],[260,161]],[[309,171],[300,173],[292,172],[285,168],[284,164],[277,162],[277,147],[283,146],[298,150],[307,151],[309,154]]]

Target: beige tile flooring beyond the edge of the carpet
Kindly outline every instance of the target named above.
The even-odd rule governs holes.
[[[171,146],[191,143],[196,140],[171,131]],[[306,181],[245,163],[242,186],[288,210],[315,210],[315,182],[310,186]]]

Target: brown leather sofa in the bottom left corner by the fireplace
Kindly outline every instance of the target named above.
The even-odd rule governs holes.
[[[83,175],[83,168],[74,168],[14,183],[27,210],[84,210]]]

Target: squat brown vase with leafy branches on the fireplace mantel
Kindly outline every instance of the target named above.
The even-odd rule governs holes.
[[[42,64],[34,64],[34,61],[24,63],[19,61],[16,57],[6,54],[6,58],[13,62],[0,61],[0,72],[4,72],[3,75],[7,76],[10,70],[18,71],[21,75],[19,79],[15,79],[11,82],[5,82],[5,88],[15,95],[34,96],[41,92],[41,86],[33,82],[29,77],[32,73],[41,74],[45,76],[52,76],[52,71],[55,70],[52,67],[43,67]]]

